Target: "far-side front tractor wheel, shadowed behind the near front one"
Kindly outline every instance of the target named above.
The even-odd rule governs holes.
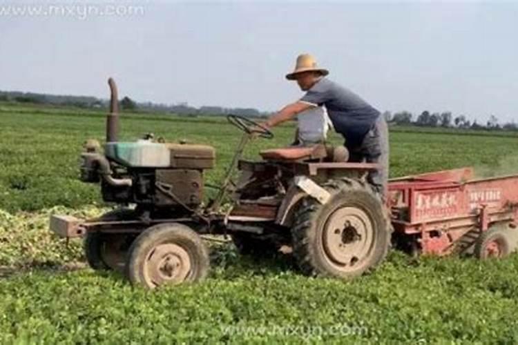
[[[135,218],[135,211],[127,208],[105,213],[99,220],[122,221]],[[84,239],[86,262],[94,270],[124,270],[126,251],[133,236],[128,234],[87,233]]]

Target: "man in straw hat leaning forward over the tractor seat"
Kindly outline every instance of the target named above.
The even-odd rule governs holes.
[[[334,130],[345,139],[349,161],[365,160],[380,165],[381,168],[371,172],[367,180],[386,200],[389,155],[387,123],[378,110],[354,92],[325,78],[328,74],[328,70],[317,66],[311,55],[299,55],[295,70],[286,78],[296,80],[306,94],[271,116],[264,125],[271,128],[305,110],[325,106]]]

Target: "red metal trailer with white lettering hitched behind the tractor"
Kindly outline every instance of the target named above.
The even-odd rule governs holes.
[[[518,235],[518,175],[474,178],[472,168],[392,179],[396,244],[413,253],[504,257]]]

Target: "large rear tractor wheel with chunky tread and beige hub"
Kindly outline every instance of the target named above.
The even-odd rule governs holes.
[[[305,197],[291,230],[294,257],[308,275],[350,279],[385,259],[392,231],[374,190],[361,181],[325,184],[326,204]]]

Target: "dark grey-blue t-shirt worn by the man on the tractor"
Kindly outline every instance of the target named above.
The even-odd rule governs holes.
[[[300,101],[314,106],[325,106],[334,130],[345,137],[345,144],[349,148],[361,145],[363,138],[380,116],[378,110],[354,92],[327,78],[320,79],[307,90]]]

